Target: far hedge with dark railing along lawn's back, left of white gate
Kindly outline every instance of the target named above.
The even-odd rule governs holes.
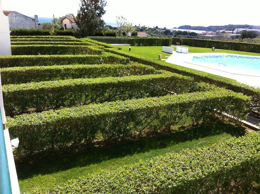
[[[110,37],[88,37],[89,39],[109,44],[131,44],[133,46],[170,46],[171,38],[110,38]]]

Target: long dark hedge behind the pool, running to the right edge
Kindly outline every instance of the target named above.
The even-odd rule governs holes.
[[[181,38],[183,40],[183,45],[212,48],[225,49],[225,50],[235,50],[244,52],[256,52],[260,53],[260,44],[245,43],[245,42],[228,42],[228,41],[215,41],[206,39],[195,39],[195,38]],[[172,38],[172,44],[180,42],[180,38]]]

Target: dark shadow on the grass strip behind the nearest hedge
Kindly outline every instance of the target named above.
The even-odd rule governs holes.
[[[39,174],[45,175],[75,167],[83,167],[113,158],[121,158],[153,149],[162,149],[169,145],[222,133],[229,133],[232,136],[242,136],[245,134],[245,131],[242,128],[238,128],[228,123],[215,123],[195,128],[186,128],[184,130],[176,130],[170,134],[141,138],[127,143],[102,146],[88,151],[63,155],[54,159],[43,159],[34,164],[19,164],[16,168],[17,175],[20,180],[27,179]]]

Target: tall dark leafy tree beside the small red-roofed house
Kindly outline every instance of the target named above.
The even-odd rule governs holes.
[[[106,13],[106,5],[105,0],[81,0],[75,21],[82,37],[93,36],[102,31],[105,22],[101,17]]]

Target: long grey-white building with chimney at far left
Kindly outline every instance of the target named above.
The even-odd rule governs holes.
[[[8,16],[9,28],[38,28],[38,16],[34,18],[25,16],[17,11],[3,11],[4,15]]]

